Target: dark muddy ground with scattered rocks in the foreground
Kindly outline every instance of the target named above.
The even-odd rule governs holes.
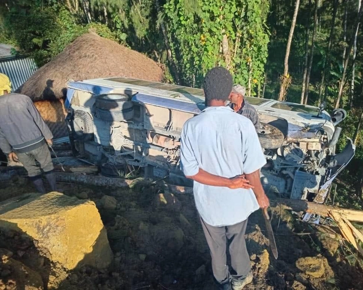
[[[96,203],[115,255],[107,271],[80,267],[69,274],[59,289],[217,289],[193,196],[164,194],[162,185],[142,181],[135,181],[130,189],[70,184],[59,187],[67,195]],[[29,192],[34,192],[34,188],[25,178],[2,181],[0,201]],[[346,250],[334,231],[303,223],[286,211],[275,212],[272,225],[278,260],[268,247],[260,211],[249,218],[246,242],[254,281],[246,289],[363,289],[363,272],[352,262],[352,255],[344,254]],[[28,267],[28,273],[35,271],[32,274],[36,279],[41,275],[46,280],[50,265],[43,257],[37,257],[32,241],[16,233],[0,232],[0,248],[11,252],[13,261],[13,266],[0,263],[0,290],[37,289],[25,287],[26,279],[19,278],[14,266],[18,261]]]

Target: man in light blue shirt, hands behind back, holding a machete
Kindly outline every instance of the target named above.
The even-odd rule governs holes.
[[[204,80],[207,108],[181,131],[181,169],[194,181],[195,204],[221,290],[241,290],[252,282],[244,234],[247,219],[269,201],[259,170],[266,164],[251,121],[226,103],[233,78],[225,68],[211,69]],[[229,242],[231,266],[227,266]]]

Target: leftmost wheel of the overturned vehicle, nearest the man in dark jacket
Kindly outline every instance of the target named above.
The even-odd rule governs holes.
[[[91,140],[93,137],[93,120],[91,115],[85,111],[75,110],[71,129],[75,139],[82,141]]]

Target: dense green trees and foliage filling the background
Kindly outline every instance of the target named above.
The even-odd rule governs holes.
[[[363,38],[361,0],[3,0],[0,42],[47,63],[90,27],[165,64],[167,80],[201,86],[204,73],[226,66],[248,94],[343,107],[341,150],[356,157],[339,176],[339,193],[363,204]],[[293,20],[288,74],[286,45]],[[316,8],[316,9],[315,9]],[[314,20],[315,18],[315,20]],[[314,35],[314,37],[312,37]],[[307,80],[308,79],[308,80]],[[306,84],[304,87],[303,84]],[[304,91],[306,92],[304,100]],[[303,93],[302,93],[303,92]],[[360,128],[359,128],[360,126]],[[345,182],[344,182],[345,181]],[[346,199],[348,200],[348,199]]]

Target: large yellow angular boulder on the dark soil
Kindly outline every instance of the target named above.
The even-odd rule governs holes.
[[[113,259],[100,214],[89,200],[35,193],[0,203],[0,227],[30,236],[54,265],[71,270],[109,266]]]

